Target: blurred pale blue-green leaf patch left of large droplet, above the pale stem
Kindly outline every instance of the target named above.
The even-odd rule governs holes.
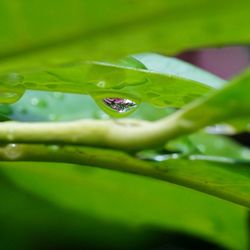
[[[2,107],[8,107],[8,118],[17,121],[107,119],[90,96],[79,94],[27,91],[18,102]]]

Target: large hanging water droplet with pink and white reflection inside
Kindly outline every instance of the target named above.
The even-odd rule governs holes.
[[[121,93],[98,93],[92,95],[99,107],[110,116],[128,116],[138,108],[139,101]]]

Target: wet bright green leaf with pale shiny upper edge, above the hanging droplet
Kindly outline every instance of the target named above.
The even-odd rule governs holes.
[[[165,61],[174,64],[179,72],[158,73],[111,63],[86,62],[24,72],[20,75],[21,83],[17,84],[26,89],[89,94],[94,98],[125,95],[128,99],[156,106],[180,107],[223,82],[180,60],[166,58]],[[187,71],[191,71],[189,75]],[[2,81],[2,86],[5,91],[16,91],[16,85],[10,85],[7,80]]]

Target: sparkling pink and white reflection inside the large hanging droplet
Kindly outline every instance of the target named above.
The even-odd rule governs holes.
[[[128,112],[137,106],[135,102],[123,98],[104,98],[103,102],[119,113]]]

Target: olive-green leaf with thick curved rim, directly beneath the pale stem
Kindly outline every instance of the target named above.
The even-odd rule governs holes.
[[[142,161],[117,150],[66,145],[9,144],[0,147],[2,161],[66,162],[131,172],[174,182],[250,207],[249,160],[201,154],[183,159],[168,158],[163,162]]]

